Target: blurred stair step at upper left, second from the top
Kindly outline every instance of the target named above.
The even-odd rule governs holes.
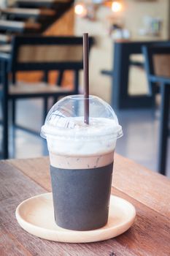
[[[49,10],[49,9],[5,8],[5,9],[0,9],[0,12],[2,14],[14,15],[15,17],[20,17],[20,18],[55,15],[55,11]]]

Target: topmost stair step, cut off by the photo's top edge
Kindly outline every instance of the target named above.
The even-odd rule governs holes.
[[[24,7],[52,7],[55,4],[67,4],[71,0],[16,0],[18,6]]]

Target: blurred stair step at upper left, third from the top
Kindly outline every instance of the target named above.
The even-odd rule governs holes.
[[[12,21],[12,20],[0,20],[0,30],[18,31],[23,32],[25,30],[39,30],[41,24],[30,23],[23,21]]]

